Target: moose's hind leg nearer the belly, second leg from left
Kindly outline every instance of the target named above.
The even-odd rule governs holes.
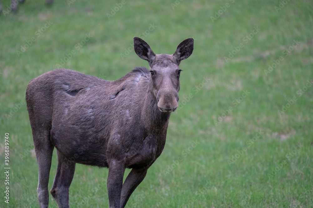
[[[50,193],[60,208],[69,208],[69,186],[74,177],[76,163],[57,152],[58,168]]]

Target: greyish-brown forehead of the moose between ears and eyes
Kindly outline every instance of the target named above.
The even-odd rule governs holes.
[[[170,68],[172,70],[178,70],[177,60],[173,55],[157,54],[155,59],[152,61],[153,69],[165,69]]]

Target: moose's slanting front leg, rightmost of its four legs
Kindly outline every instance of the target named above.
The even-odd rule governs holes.
[[[132,192],[146,177],[147,169],[131,169],[131,172],[126,177],[126,180],[122,187],[121,193],[121,207],[124,207],[131,196]]]

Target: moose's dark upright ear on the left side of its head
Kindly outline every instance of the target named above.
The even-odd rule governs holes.
[[[134,37],[134,49],[136,54],[141,59],[148,61],[151,66],[151,63],[155,59],[156,55],[151,50],[150,46],[141,38]]]

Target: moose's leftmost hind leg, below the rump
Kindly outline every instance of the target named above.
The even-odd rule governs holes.
[[[40,133],[40,129],[39,131],[33,131],[33,141],[39,167],[38,201],[41,208],[46,208],[49,204],[48,182],[54,146],[49,141],[49,132],[43,131],[43,133]]]

